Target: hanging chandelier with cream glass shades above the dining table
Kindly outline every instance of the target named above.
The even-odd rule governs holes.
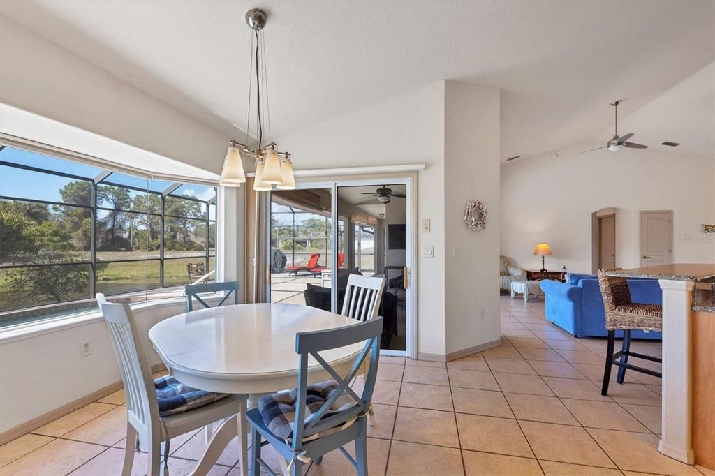
[[[295,189],[295,178],[293,177],[293,164],[290,161],[290,154],[279,152],[275,142],[271,142],[270,134],[270,108],[268,107],[267,78],[265,66],[265,31],[263,27],[267,22],[265,11],[252,9],[246,13],[246,23],[252,29],[251,34],[251,66],[248,91],[248,121],[246,124],[246,144],[231,141],[231,145],[226,153],[224,165],[221,172],[219,184],[225,187],[240,187],[246,182],[241,156],[250,157],[256,162],[256,176],[253,181],[253,189],[263,192],[276,188],[282,190]],[[254,48],[255,39],[255,48]],[[262,44],[264,43],[264,44]],[[249,129],[251,117],[251,86],[253,84],[253,73],[255,71],[256,81],[256,126],[258,142],[252,149],[247,145],[249,142]],[[263,143],[263,118],[267,119],[268,143]]]

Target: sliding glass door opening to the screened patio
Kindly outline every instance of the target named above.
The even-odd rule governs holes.
[[[270,194],[271,302],[340,312],[350,274],[385,279],[384,354],[411,356],[410,179],[300,184]]]

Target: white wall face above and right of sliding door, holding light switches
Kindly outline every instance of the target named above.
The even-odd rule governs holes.
[[[296,169],[427,165],[418,177],[418,223],[430,219],[432,232],[418,232],[418,247],[435,247],[435,257],[417,263],[422,354],[445,354],[444,88],[440,81],[276,140]]]

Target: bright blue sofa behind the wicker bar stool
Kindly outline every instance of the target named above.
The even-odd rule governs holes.
[[[657,279],[628,279],[633,302],[662,304]],[[606,314],[595,274],[566,275],[566,282],[541,281],[546,299],[546,319],[576,337],[606,337]],[[660,332],[634,330],[633,339],[661,339]]]

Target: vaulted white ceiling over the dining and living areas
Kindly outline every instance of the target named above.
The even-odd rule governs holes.
[[[269,14],[274,137],[455,79],[502,88],[502,159],[529,156],[601,139],[610,101],[627,98],[626,117],[715,59],[712,1],[6,0],[0,12],[240,138],[255,7]]]

